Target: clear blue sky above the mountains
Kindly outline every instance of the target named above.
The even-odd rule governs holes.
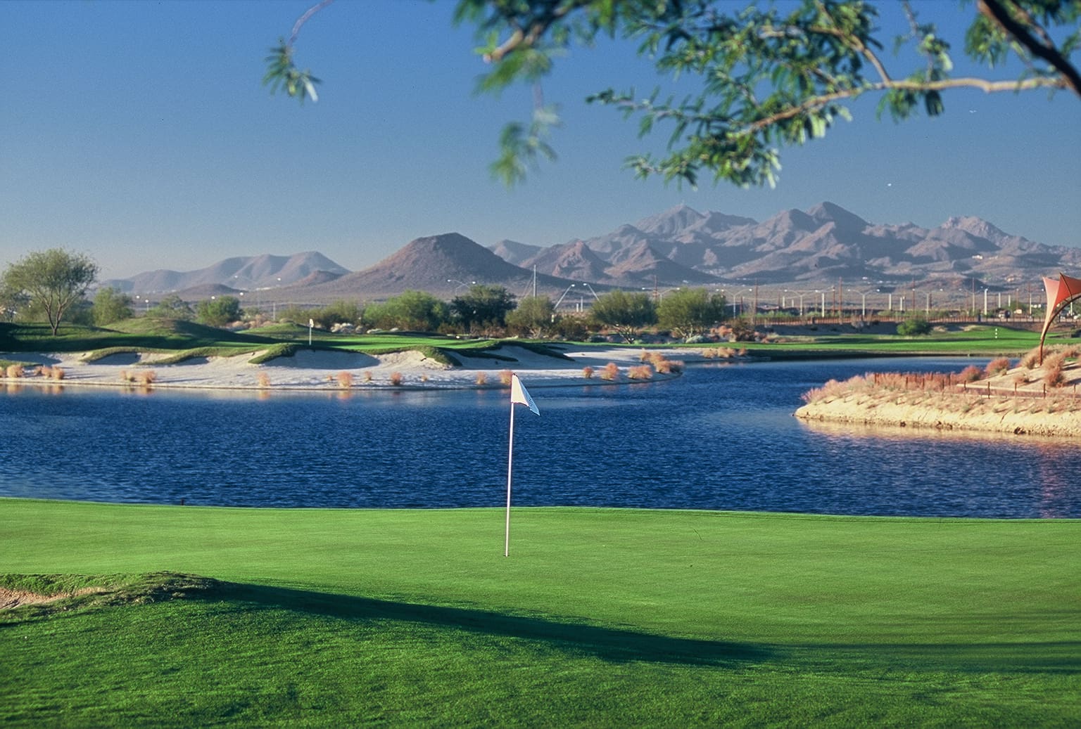
[[[826,139],[783,151],[776,189],[695,191],[622,168],[663,138],[642,143],[636,122],[583,98],[658,79],[631,44],[608,43],[573,51],[545,82],[565,122],[560,160],[508,191],[488,165],[530,91],[473,94],[484,68],[472,29],[452,27],[453,2],[338,0],[296,46],[323,79],[319,103],[270,96],[264,56],[312,1],[0,2],[0,266],[59,246],[103,278],[302,251],[359,270],[422,235],[550,245],[680,202],[759,220],[824,200],[872,222],[975,215],[1081,245],[1069,93],[960,92],[945,117],[900,125],[860,102]],[[966,19],[947,2],[917,8],[953,29]],[[894,3],[883,12],[899,22]]]

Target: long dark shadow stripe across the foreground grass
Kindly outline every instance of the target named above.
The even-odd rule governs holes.
[[[588,653],[605,661],[652,661],[694,665],[731,665],[766,661],[769,648],[723,640],[699,640],[636,631],[508,616],[467,608],[417,605],[330,593],[221,583],[206,599],[229,599],[346,620],[391,620],[482,636],[536,640],[569,652]]]

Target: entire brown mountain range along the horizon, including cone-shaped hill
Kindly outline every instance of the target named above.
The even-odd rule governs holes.
[[[519,296],[534,286],[565,295],[572,284],[587,283],[603,289],[918,280],[1004,289],[1079,269],[1081,248],[1036,243],[980,218],[951,217],[931,229],[881,225],[823,202],[762,222],[678,205],[604,235],[547,247],[505,240],[485,248],[444,233],[416,239],[356,272],[309,252],[228,258],[198,271],[159,270],[103,284],[192,298],[273,289],[277,300],[319,301],[385,298],[405,289],[450,296],[471,283],[503,285]]]

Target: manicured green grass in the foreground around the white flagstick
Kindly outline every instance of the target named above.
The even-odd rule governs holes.
[[[509,558],[503,527],[2,499],[0,584],[111,586],[0,612],[0,723],[1081,721],[1081,522],[519,509]]]

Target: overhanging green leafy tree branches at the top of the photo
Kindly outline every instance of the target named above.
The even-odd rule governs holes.
[[[333,0],[302,15],[289,40],[267,57],[264,83],[271,91],[318,100],[310,71],[293,62],[302,26]],[[1081,48],[1081,0],[976,0],[963,39],[964,54],[989,70],[1007,59],[1024,67],[1019,78],[956,78],[952,42],[935,23],[922,22],[917,5],[880,2],[903,12],[908,32],[893,42],[880,37],[878,5],[869,0],[801,0],[789,12],[715,0],[458,0],[455,18],[472,23],[482,37],[478,49],[491,71],[481,91],[498,93],[516,82],[538,86],[557,56],[574,43],[601,36],[639,43],[639,55],[698,91],[663,97],[635,90],[608,89],[587,98],[625,117],[637,116],[642,136],[668,127],[667,156],[633,156],[627,166],[639,177],[660,175],[694,186],[699,173],[713,183],[774,185],[780,168],[778,147],[822,137],[838,118],[849,119],[845,103],[864,95],[879,98],[879,113],[907,119],[922,107],[929,116],[945,110],[944,95],[956,89],[988,93],[1069,90],[1081,97],[1081,73],[1071,56]],[[763,3],[765,4],[765,3]],[[960,3],[963,9],[970,3]],[[940,12],[945,2],[920,4]],[[958,12],[951,9],[949,12]],[[890,68],[882,50],[909,46],[922,65]],[[547,143],[560,123],[539,93],[528,123],[504,127],[502,153],[492,172],[508,185],[521,181],[540,159],[553,159]]]

